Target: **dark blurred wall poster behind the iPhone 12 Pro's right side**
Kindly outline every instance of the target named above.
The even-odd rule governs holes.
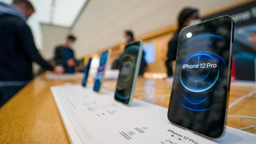
[[[216,13],[202,20],[229,15],[235,21],[233,57],[237,80],[255,80],[256,1]]]

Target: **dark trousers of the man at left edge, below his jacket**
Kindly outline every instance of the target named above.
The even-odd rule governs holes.
[[[23,86],[2,86],[0,87],[0,107],[2,107],[12,96],[14,96]]]

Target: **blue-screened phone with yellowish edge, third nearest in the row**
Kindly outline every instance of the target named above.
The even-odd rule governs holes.
[[[106,66],[108,63],[108,60],[110,58],[111,50],[108,50],[106,52],[103,52],[100,57],[100,66],[98,67],[98,71],[95,77],[95,82],[93,86],[93,90],[95,92],[99,92],[101,90],[102,83],[104,81],[104,75],[106,71]]]

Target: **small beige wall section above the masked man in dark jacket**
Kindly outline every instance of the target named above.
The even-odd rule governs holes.
[[[41,54],[47,60],[53,58],[54,48],[63,44],[66,36],[70,33],[70,29],[65,27],[57,27],[53,25],[42,24],[43,33],[43,50]]]

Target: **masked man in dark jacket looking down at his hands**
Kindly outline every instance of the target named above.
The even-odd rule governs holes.
[[[78,66],[79,61],[75,59],[72,46],[76,41],[76,37],[68,35],[65,43],[57,46],[54,52],[54,60],[56,65],[61,65],[65,68],[65,73],[75,73],[75,67]]]

